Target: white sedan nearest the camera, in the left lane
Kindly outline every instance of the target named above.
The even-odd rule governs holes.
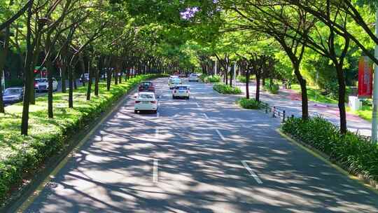
[[[139,92],[137,99],[135,99],[134,112],[137,114],[140,111],[158,111],[158,100],[153,92]]]

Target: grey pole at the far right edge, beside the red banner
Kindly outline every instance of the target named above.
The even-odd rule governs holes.
[[[375,13],[375,36],[378,36],[378,8]],[[378,45],[375,45],[374,56],[378,58]],[[378,128],[378,64],[374,64],[374,85],[373,85],[373,111],[372,111],[372,142],[377,142]]]

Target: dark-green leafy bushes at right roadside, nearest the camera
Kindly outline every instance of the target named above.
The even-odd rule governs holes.
[[[314,147],[329,156],[330,160],[344,167],[351,174],[363,179],[378,181],[378,145],[369,137],[347,132],[339,133],[332,123],[323,118],[288,118],[282,125],[283,132]],[[370,182],[370,184],[372,184]]]

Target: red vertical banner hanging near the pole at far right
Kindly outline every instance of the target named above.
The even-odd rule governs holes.
[[[372,97],[373,67],[369,57],[360,57],[358,63],[358,97]]]

